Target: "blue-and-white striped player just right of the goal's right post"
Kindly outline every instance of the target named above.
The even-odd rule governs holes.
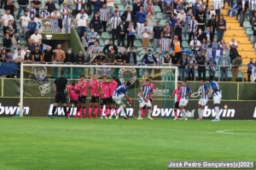
[[[188,105],[189,102],[189,94],[191,94],[192,91],[189,88],[189,86],[187,86],[187,82],[185,80],[183,80],[182,82],[182,88],[181,88],[181,99],[179,101],[179,105],[178,105],[178,109],[181,112],[181,114],[183,115],[183,120],[187,121],[187,112],[185,111],[185,107],[186,105]]]

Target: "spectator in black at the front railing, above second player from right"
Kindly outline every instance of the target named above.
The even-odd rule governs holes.
[[[197,67],[197,72],[198,72],[198,78],[201,80],[206,80],[206,75],[207,75],[207,69],[206,69],[206,57],[201,54],[201,51],[197,53],[197,56],[195,57],[196,63],[198,65]],[[201,77],[202,75],[202,77]]]

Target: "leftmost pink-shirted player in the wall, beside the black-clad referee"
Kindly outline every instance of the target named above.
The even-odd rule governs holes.
[[[70,116],[70,111],[73,105],[77,106],[77,112],[79,110],[79,85],[76,84],[76,81],[73,80],[72,84],[68,86],[68,94],[69,94],[69,108],[67,111],[67,117],[69,118]],[[77,114],[76,114],[77,116]]]

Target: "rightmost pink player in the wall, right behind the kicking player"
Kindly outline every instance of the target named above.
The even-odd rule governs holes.
[[[116,105],[115,105],[115,102],[113,101],[112,99],[112,96],[113,96],[113,93],[114,93],[114,90],[118,87],[118,82],[116,81],[116,77],[112,77],[110,79],[110,82],[109,82],[109,112],[108,112],[108,118],[109,119],[112,119],[112,111],[115,112],[115,118],[118,119],[119,118],[119,113],[118,113],[118,109],[116,108]]]

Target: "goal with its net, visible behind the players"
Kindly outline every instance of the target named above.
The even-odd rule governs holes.
[[[55,78],[60,77],[61,71],[65,72],[69,84],[73,79],[78,83],[80,75],[84,75],[87,82],[90,81],[92,75],[96,75],[100,82],[104,75],[109,78],[115,77],[118,84],[130,81],[131,87],[128,88],[128,94],[132,98],[132,103],[126,105],[126,113],[131,117],[138,115],[138,94],[146,79],[152,77],[154,84],[152,116],[173,116],[172,108],[175,99],[170,99],[170,96],[177,86],[176,66],[21,64],[20,71],[20,116],[51,116],[55,103],[52,85]],[[89,104],[90,89],[87,92],[85,106],[88,108]],[[98,106],[100,110],[100,102]],[[22,108],[29,108],[29,110]],[[76,107],[73,107],[70,116],[74,116],[75,112]],[[64,116],[61,104],[56,109],[55,116]]]

